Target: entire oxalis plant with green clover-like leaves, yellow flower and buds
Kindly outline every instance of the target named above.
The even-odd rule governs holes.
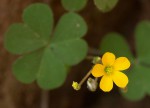
[[[61,2],[68,12],[60,17],[55,27],[51,8],[47,4],[35,3],[24,10],[23,22],[12,24],[5,34],[5,48],[12,54],[20,55],[12,70],[22,83],[36,80],[44,90],[58,88],[65,82],[68,68],[87,56],[88,44],[82,37],[88,27],[82,16],[76,13],[85,7],[87,0]],[[118,0],[93,2],[101,12],[108,12]],[[110,92],[114,83],[121,88],[122,96],[129,100],[140,100],[150,94],[149,21],[137,25],[134,38],[136,56],[122,35],[107,34],[100,42],[102,56],[92,57],[91,70],[79,83],[73,81],[72,87],[80,90],[86,81],[90,91],[100,88]]]

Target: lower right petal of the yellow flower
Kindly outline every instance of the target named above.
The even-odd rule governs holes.
[[[112,79],[114,83],[120,88],[125,88],[128,84],[128,77],[119,71],[116,71],[112,74]]]

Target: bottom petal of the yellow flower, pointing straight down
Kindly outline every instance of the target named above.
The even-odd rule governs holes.
[[[113,88],[113,81],[110,76],[104,75],[100,81],[100,88],[104,92],[109,92]]]

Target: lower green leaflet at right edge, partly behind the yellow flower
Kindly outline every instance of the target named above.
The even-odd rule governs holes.
[[[129,77],[128,91],[122,93],[123,96],[129,100],[137,101],[142,99],[150,92],[149,68],[135,64],[132,69],[127,73]]]

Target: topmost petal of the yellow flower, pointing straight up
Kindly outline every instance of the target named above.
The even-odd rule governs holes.
[[[115,55],[110,52],[106,52],[102,57],[102,63],[105,66],[111,66],[115,62]]]

